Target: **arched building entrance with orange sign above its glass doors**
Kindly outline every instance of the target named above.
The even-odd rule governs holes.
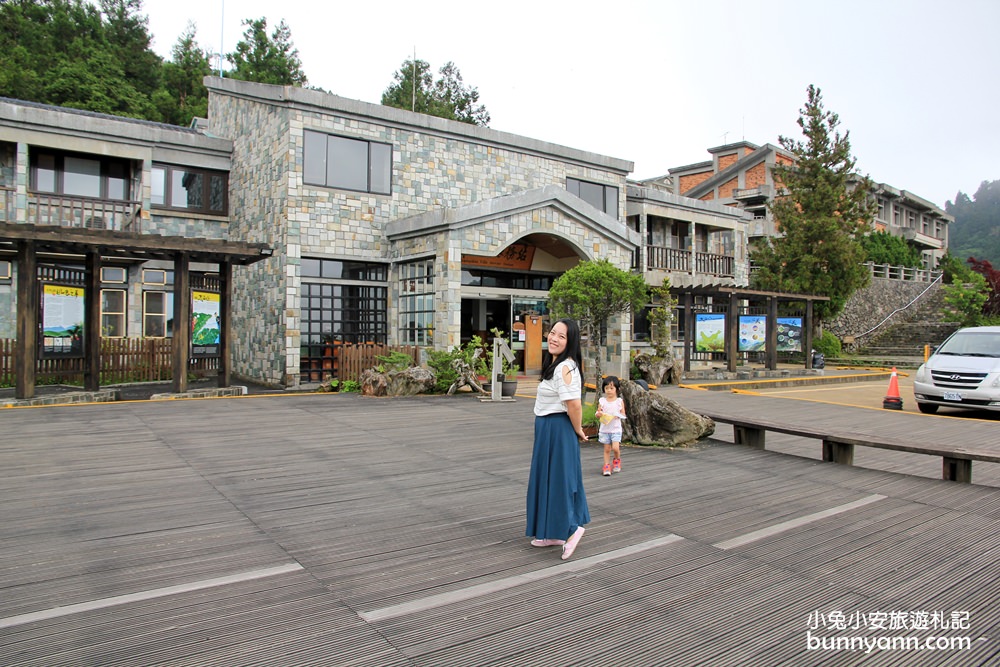
[[[492,339],[499,329],[511,341],[520,373],[537,375],[550,320],[552,281],[581,260],[581,253],[554,234],[529,234],[494,257],[462,255],[464,345],[473,336]]]

